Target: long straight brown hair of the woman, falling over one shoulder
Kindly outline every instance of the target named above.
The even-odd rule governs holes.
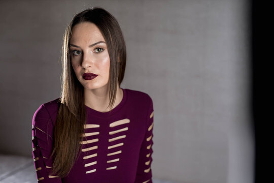
[[[106,10],[101,8],[86,9],[74,16],[67,26],[62,44],[61,62],[61,97],[57,113],[53,137],[53,167],[51,173],[65,177],[71,171],[80,155],[80,141],[83,140],[84,124],[86,124],[86,110],[84,104],[84,88],[77,79],[72,68],[70,52],[68,51],[72,28],[81,22],[94,23],[104,36],[110,56],[109,77],[109,106],[114,105],[117,84],[124,78],[126,66],[126,47],[121,28],[117,20]]]

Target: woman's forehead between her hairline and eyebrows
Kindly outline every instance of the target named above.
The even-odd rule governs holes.
[[[91,22],[81,22],[72,28],[71,42],[86,42],[105,41],[100,29]]]

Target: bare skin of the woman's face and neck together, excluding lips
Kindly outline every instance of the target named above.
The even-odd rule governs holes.
[[[74,72],[84,87],[85,105],[99,112],[108,112],[110,57],[106,41],[99,28],[91,22],[81,22],[72,29],[70,58]],[[91,80],[84,73],[98,76]],[[115,108],[123,99],[123,90],[117,85]]]

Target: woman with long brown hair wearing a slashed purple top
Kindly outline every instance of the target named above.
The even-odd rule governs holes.
[[[117,20],[101,8],[66,28],[60,98],[32,119],[39,182],[152,182],[153,102],[121,88],[126,48]]]

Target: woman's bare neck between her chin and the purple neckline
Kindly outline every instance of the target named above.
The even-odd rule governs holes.
[[[85,105],[99,112],[108,112],[110,103],[109,86],[97,89],[84,89]],[[123,90],[117,85],[116,99],[113,105],[115,108],[123,99]]]

